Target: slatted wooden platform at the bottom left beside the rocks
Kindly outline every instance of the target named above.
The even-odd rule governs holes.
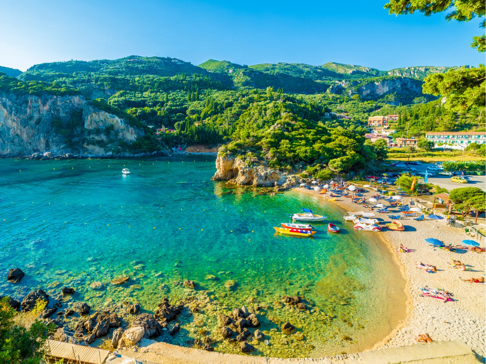
[[[84,345],[48,340],[46,355],[55,360],[64,359],[64,363],[103,364],[109,355],[108,350]]]

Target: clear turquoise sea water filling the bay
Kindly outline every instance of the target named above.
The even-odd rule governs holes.
[[[2,283],[0,295],[21,299],[42,288],[56,297],[67,285],[76,289],[74,300],[94,310],[128,300],[147,312],[165,296],[174,303],[208,298],[207,307],[180,318],[178,335],[158,338],[185,346],[202,335],[201,327],[218,340],[219,313],[259,306],[260,330],[270,345],[254,343],[253,355],[350,352],[392,329],[387,297],[399,287],[386,277],[396,268],[373,233],[355,232],[342,209],[311,195],[270,196],[265,189],[211,181],[214,161],[206,155],[0,160],[1,281],[12,267],[26,273],[18,284]],[[123,176],[124,167],[132,174]],[[327,222],[313,224],[318,232],[312,238],[274,231],[302,207],[327,215],[342,233],[329,234]],[[130,281],[109,284],[121,275]],[[179,284],[186,279],[196,282],[195,291]],[[229,280],[235,281],[231,290]],[[103,289],[89,288],[94,281]],[[304,296],[309,310],[281,306],[282,295]],[[297,336],[280,332],[287,320]],[[238,352],[220,339],[216,351]]]

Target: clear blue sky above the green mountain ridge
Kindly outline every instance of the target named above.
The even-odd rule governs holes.
[[[479,19],[388,15],[387,0],[0,2],[0,66],[128,55],[255,65],[338,62],[388,70],[485,62]]]

